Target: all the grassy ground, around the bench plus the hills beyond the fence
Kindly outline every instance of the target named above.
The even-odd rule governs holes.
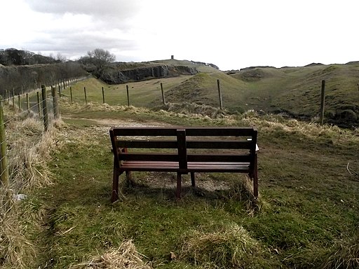
[[[359,178],[347,170],[349,164],[359,172],[358,128],[206,106],[218,106],[219,79],[231,112],[292,109],[316,116],[320,80],[326,79],[333,113],[356,111],[357,68],[257,68],[229,76],[205,67],[195,76],[128,83],[132,106],[126,85],[90,78],[72,86],[74,102],[69,88],[63,90],[64,123],[32,153],[50,153],[46,164],[33,165],[36,179],[48,183],[30,177],[27,184],[37,187],[22,189],[27,199],[15,205],[15,221],[6,222],[8,212],[0,211],[7,224],[0,229],[0,267],[358,268]],[[39,139],[37,124],[8,126],[7,132],[11,139],[11,128]],[[184,197],[177,201],[174,174],[146,172],[135,173],[137,184],[123,186],[121,200],[111,204],[111,125],[257,126],[258,204],[251,203],[243,175],[201,173],[195,189],[184,176]],[[21,165],[27,158],[18,158],[17,167],[27,170]]]

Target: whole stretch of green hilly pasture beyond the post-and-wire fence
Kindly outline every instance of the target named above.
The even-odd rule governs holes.
[[[170,60],[155,63],[171,64]],[[188,61],[175,63],[194,65],[201,73],[128,83],[130,104],[147,108],[161,106],[160,84],[163,83],[167,102],[219,107],[219,80],[223,106],[232,113],[255,109],[311,120],[319,116],[321,81],[325,80],[325,121],[344,127],[358,126],[359,64],[318,64],[280,69],[257,67],[225,74],[212,67],[200,68]],[[84,102],[83,87],[86,85],[89,102],[102,102],[101,89],[104,87],[107,104],[128,104],[126,85],[104,85],[94,79],[74,86],[74,101]],[[69,95],[69,90],[64,93]]]

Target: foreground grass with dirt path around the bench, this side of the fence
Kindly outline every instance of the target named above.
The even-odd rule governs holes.
[[[61,107],[54,184],[23,202],[41,214],[40,228],[30,229],[30,268],[358,267],[359,182],[346,170],[348,162],[359,170],[358,131],[253,112],[211,119],[63,98]],[[256,125],[257,209],[238,174],[198,174],[194,190],[184,177],[176,201],[175,175],[138,172],[138,184],[111,204],[109,126],[168,124]]]

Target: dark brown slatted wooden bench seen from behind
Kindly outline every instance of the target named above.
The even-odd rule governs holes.
[[[255,127],[111,127],[114,178],[111,201],[118,200],[118,178],[126,172],[176,172],[176,196],[182,174],[248,173],[258,197],[257,129]],[[129,150],[131,149],[131,151]],[[205,150],[205,152],[203,152]]]

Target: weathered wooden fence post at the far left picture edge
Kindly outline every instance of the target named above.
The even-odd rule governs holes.
[[[0,147],[1,147],[1,186],[9,186],[8,180],[8,157],[6,156],[6,137],[3,111],[3,98],[0,96]]]

